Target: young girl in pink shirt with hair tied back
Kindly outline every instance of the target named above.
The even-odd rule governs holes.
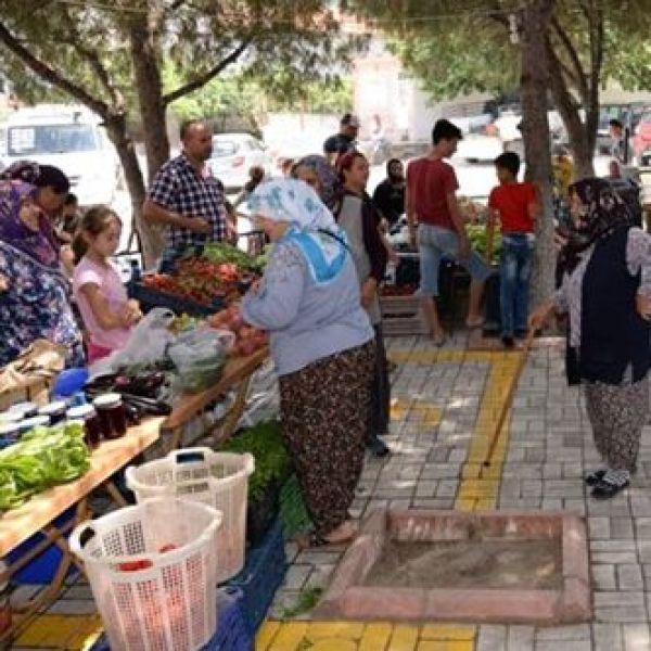
[[[111,261],[120,233],[119,217],[106,206],[95,206],[84,216],[73,244],[77,265],[73,291],[90,336],[90,363],[124,347],[142,317],[138,302],[128,298]]]

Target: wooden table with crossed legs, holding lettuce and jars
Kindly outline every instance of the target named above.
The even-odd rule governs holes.
[[[162,418],[152,418],[140,425],[129,427],[122,438],[103,442],[93,450],[90,457],[90,469],[82,477],[35,495],[17,509],[12,509],[0,516],[0,558],[37,533],[44,536],[44,539],[34,549],[9,565],[4,572],[0,572],[0,584],[48,547],[56,545],[62,551],[51,584],[25,604],[20,613],[14,611],[16,621],[10,629],[0,634],[0,647],[12,639],[40,609],[56,599],[73,564],[82,570],[80,563],[71,553],[65,534],[88,519],[90,515],[88,497],[98,488],[104,489],[118,506],[126,506],[124,497],[111,477],[157,441],[162,422]],[[75,507],[75,515],[65,525],[55,526],[53,521],[71,507]]]

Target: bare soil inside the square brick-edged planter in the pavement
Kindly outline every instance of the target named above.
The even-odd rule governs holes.
[[[558,539],[391,540],[363,585],[553,590],[562,587],[562,550]]]

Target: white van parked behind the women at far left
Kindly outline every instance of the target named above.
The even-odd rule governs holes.
[[[54,165],[71,180],[79,205],[111,204],[120,178],[115,148],[100,118],[84,106],[40,104],[20,108],[2,125],[0,161]]]

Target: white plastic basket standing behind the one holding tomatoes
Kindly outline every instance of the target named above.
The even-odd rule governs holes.
[[[246,497],[253,470],[254,459],[250,454],[186,448],[164,459],[129,467],[126,480],[138,501],[167,495],[200,501],[221,511],[217,580],[224,583],[244,566]]]

